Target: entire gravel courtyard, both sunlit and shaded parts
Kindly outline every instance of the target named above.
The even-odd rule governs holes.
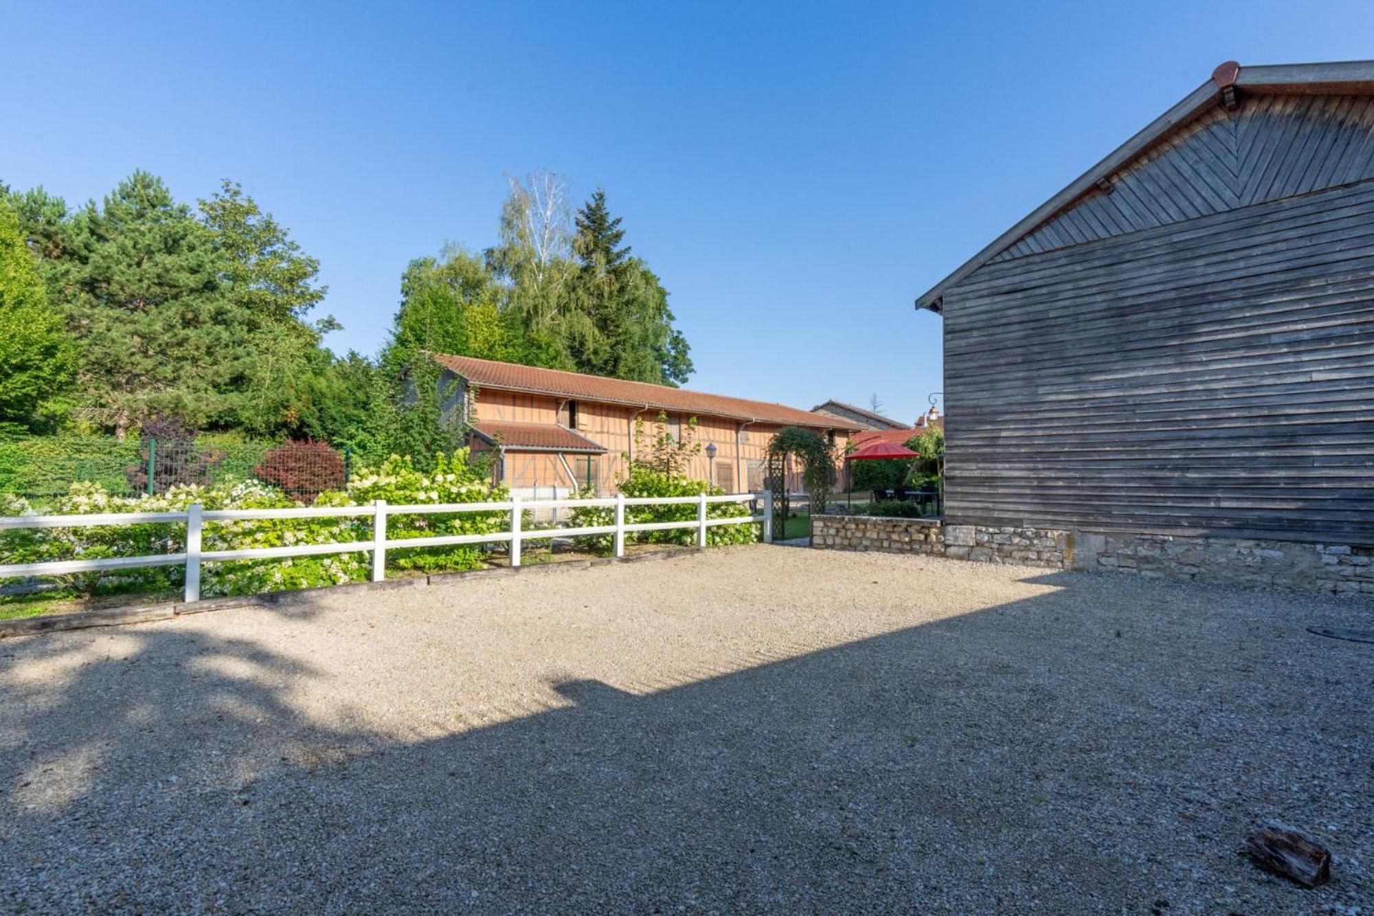
[[[1311,624],[1374,604],[752,546],[4,640],[0,912],[1370,913]]]

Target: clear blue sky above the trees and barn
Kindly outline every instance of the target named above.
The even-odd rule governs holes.
[[[1371,54],[1374,4],[4,4],[0,180],[242,182],[323,263],[338,351],[405,263],[495,239],[506,175],[596,184],[690,386],[910,419],[912,300],[1226,59]]]

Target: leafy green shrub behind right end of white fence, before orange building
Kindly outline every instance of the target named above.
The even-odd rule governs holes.
[[[705,492],[708,497],[724,495],[724,490],[713,487],[705,480],[692,480],[680,473],[665,473],[655,470],[647,464],[633,464],[629,477],[620,481],[620,491],[627,497],[697,497]],[[749,514],[749,508],[738,502],[712,502],[706,505],[708,519],[739,519]],[[640,524],[649,521],[695,521],[697,506],[692,503],[677,503],[669,506],[625,506],[625,524]],[[616,524],[614,509],[602,506],[584,506],[573,510],[574,527],[595,527]],[[697,543],[697,531],[692,528],[669,528],[668,531],[638,531],[628,532],[627,541],[642,543]],[[613,535],[591,535],[587,538],[592,549],[598,553],[610,553],[614,549]],[[731,543],[753,543],[758,541],[758,528],[753,524],[713,525],[706,528],[706,545],[719,547]]]

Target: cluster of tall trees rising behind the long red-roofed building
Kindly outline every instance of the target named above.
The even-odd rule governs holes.
[[[657,384],[692,371],[668,290],[624,245],[598,190],[576,219],[548,173],[513,180],[500,242],[478,259],[448,248],[401,278],[382,364],[401,373],[426,352],[480,356]]]

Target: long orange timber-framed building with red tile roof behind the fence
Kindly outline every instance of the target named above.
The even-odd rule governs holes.
[[[764,488],[768,440],[783,426],[802,426],[844,451],[853,422],[743,397],[649,382],[537,369],[473,356],[436,355],[451,407],[466,410],[473,447],[496,450],[500,480],[522,497],[565,498],[580,490],[616,491],[627,457],[646,446],[662,413],[677,439],[695,419],[701,451],[687,475],[725,492]],[[635,425],[644,441],[635,441]],[[800,491],[800,468],[789,473]]]

